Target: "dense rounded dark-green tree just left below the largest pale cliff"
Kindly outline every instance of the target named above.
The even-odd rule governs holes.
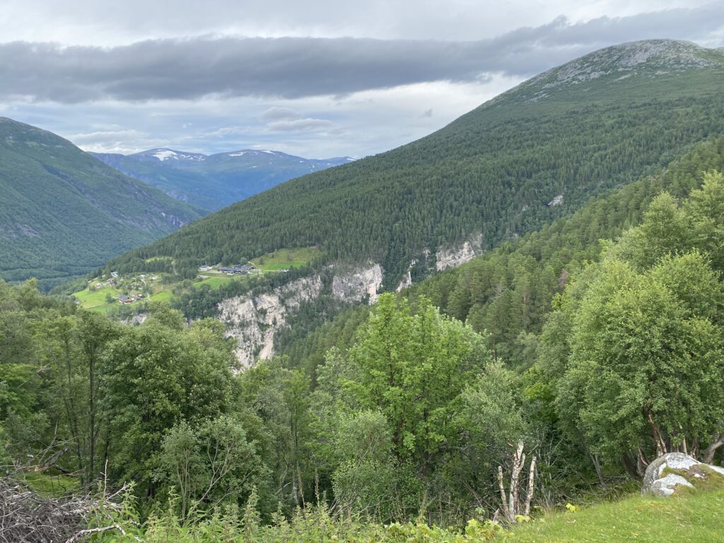
[[[127,327],[104,353],[104,413],[111,429],[115,480],[135,480],[153,497],[165,433],[181,421],[198,424],[230,408],[232,348],[217,324],[178,329],[169,310]]]

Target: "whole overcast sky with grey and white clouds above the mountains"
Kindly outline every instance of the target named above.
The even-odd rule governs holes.
[[[89,151],[364,156],[647,38],[724,46],[724,0],[0,0],[0,115]]]

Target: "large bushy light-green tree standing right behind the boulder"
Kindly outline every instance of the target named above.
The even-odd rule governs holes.
[[[681,261],[683,259],[683,261]],[[686,266],[686,264],[689,266]],[[662,268],[681,271],[688,285],[712,285],[698,257],[675,257]],[[696,448],[724,416],[720,332],[657,276],[607,261],[573,319],[568,369],[559,384],[565,416],[608,458],[621,452]],[[679,278],[681,278],[679,277]],[[689,302],[691,303],[691,302]]]

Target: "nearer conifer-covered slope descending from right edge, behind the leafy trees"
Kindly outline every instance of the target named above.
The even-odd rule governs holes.
[[[724,137],[700,143],[662,172],[592,198],[572,216],[424,279],[403,295],[427,298],[443,313],[486,331],[494,357],[516,368],[529,367],[555,295],[586,263],[599,260],[600,240],[614,240],[639,224],[658,194],[684,198],[701,185],[706,172],[715,171],[724,171]],[[277,353],[313,373],[327,350],[351,345],[369,308],[350,308],[322,326],[319,317],[314,319],[319,307],[310,304],[301,311],[305,318],[277,337]]]

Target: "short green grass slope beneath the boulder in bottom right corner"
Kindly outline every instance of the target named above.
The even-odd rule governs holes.
[[[724,542],[724,488],[669,498],[633,495],[515,527],[516,543]]]

